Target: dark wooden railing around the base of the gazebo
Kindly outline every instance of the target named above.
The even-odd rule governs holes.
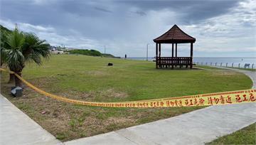
[[[156,65],[159,67],[173,65],[192,65],[191,57],[156,57]]]

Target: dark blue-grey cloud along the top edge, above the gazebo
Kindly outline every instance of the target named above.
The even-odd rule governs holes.
[[[228,13],[230,9],[238,6],[238,0],[226,1],[119,1],[119,3],[135,6],[142,11],[161,11],[168,9],[169,11],[176,11],[182,17],[182,23],[198,23],[205,18],[219,16]]]

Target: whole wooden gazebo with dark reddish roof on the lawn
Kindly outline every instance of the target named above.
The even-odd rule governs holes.
[[[196,42],[196,38],[188,36],[185,32],[174,25],[169,31],[154,39],[156,43],[156,68],[174,68],[179,66],[180,68],[190,66],[193,68],[193,43]],[[161,57],[161,43],[171,43],[172,53],[171,57]],[[177,56],[177,44],[178,43],[191,43],[191,56],[190,57],[178,57]],[[175,56],[174,56],[174,44],[175,44]]]

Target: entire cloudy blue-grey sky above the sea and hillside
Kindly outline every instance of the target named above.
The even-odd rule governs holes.
[[[84,1],[0,0],[0,24],[36,33],[50,45],[96,49],[117,56],[155,54],[153,39],[177,24],[196,38],[195,57],[256,57],[255,0]],[[171,56],[171,45],[162,46]],[[188,56],[188,44],[178,55]]]

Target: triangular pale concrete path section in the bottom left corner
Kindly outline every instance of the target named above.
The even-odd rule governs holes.
[[[0,94],[0,144],[63,144]]]

